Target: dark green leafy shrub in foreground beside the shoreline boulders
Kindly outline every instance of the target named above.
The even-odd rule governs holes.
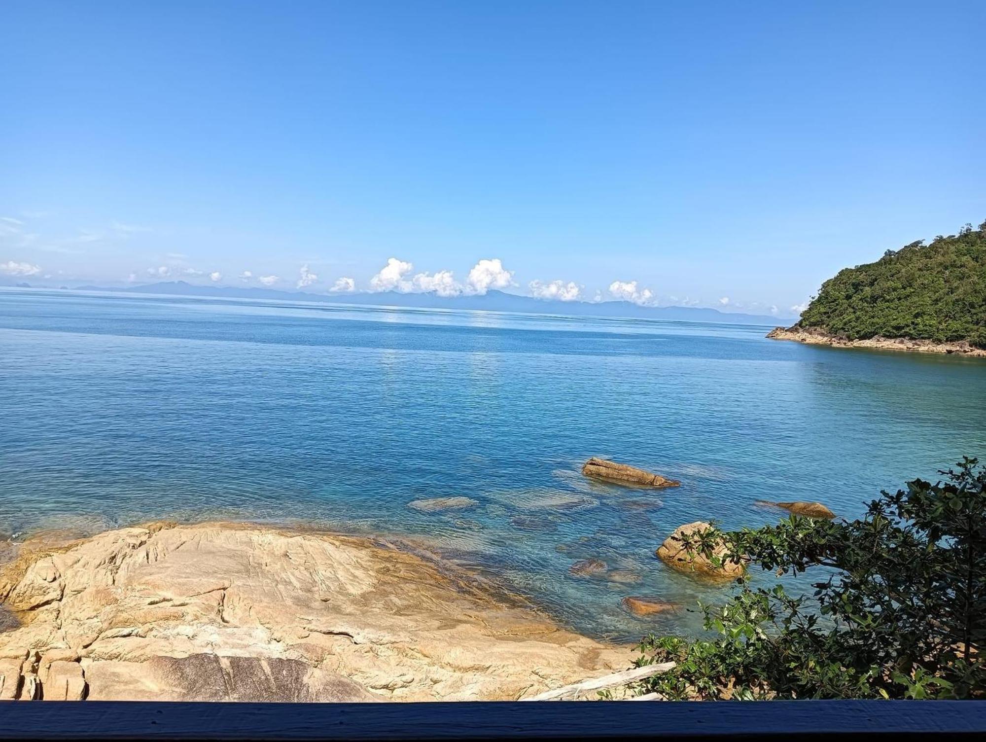
[[[986,467],[965,458],[870,503],[862,520],[792,516],[776,526],[710,531],[694,554],[765,570],[821,572],[813,595],[747,582],[703,607],[713,638],[650,635],[637,665],[674,660],[641,684],[668,699],[986,698]]]

